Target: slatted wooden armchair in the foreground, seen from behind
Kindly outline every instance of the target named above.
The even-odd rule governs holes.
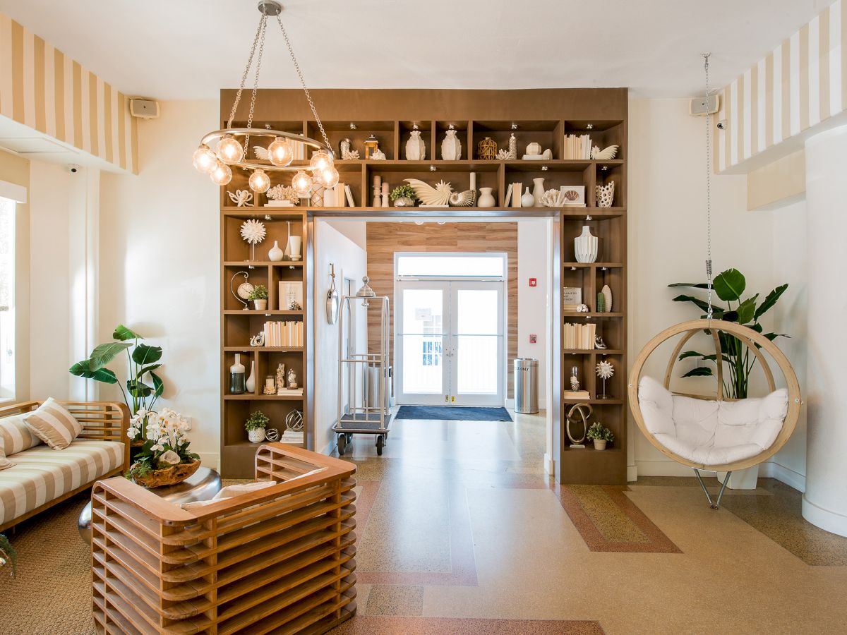
[[[97,632],[313,633],[348,619],[356,611],[354,472],[346,461],[262,444],[256,478],[279,484],[191,511],[125,478],[98,482]]]

